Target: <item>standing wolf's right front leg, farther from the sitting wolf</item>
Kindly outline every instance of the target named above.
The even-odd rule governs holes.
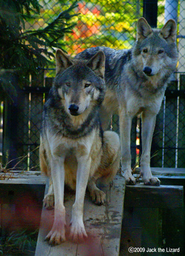
[[[150,169],[150,149],[152,136],[154,134],[156,114],[142,113],[142,156],[141,156],[141,176],[145,185],[159,186],[160,180],[152,176]]]

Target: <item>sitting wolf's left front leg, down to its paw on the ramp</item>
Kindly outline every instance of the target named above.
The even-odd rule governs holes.
[[[47,234],[49,244],[57,245],[65,242],[65,207],[64,207],[64,158],[52,158],[51,176],[54,187],[54,224]]]

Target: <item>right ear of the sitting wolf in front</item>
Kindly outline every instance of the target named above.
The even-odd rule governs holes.
[[[92,69],[96,75],[104,78],[104,73],[105,73],[104,52],[98,51],[91,59],[89,59],[88,67],[90,67],[90,69]]]

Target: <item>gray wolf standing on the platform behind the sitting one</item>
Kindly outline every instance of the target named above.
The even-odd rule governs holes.
[[[160,181],[153,177],[150,171],[150,148],[156,115],[177,64],[176,23],[174,20],[168,20],[162,30],[158,30],[152,29],[144,18],[140,18],[137,40],[133,48],[90,48],[78,54],[76,58],[89,59],[99,50],[105,54],[107,85],[101,107],[102,126],[106,129],[112,114],[119,114],[121,170],[126,183],[136,183],[131,171],[130,131],[133,117],[141,113],[141,176],[144,184],[159,186]]]

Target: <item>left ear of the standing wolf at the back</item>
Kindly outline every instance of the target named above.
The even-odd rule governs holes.
[[[137,40],[143,40],[147,38],[147,36],[149,36],[151,33],[153,33],[153,31],[149,23],[147,23],[146,19],[141,17],[137,24]]]

